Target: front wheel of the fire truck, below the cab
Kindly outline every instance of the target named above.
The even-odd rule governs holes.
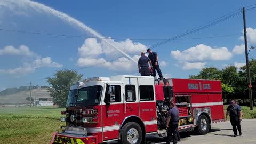
[[[142,141],[142,130],[139,124],[129,122],[121,129],[121,142],[123,144],[140,144]]]

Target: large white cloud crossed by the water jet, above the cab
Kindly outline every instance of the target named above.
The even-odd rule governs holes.
[[[106,42],[107,41],[107,42]],[[80,58],[77,60],[79,67],[103,66],[115,71],[132,71],[138,67],[132,60],[121,57],[117,60],[108,62],[106,59],[114,59],[120,57],[121,52],[118,52],[113,46],[118,47],[125,53],[140,53],[146,51],[147,47],[141,43],[134,43],[130,39],[125,41],[115,42],[113,39],[105,39],[105,41],[97,41],[95,38],[86,39],[84,44],[78,48]],[[134,55],[133,60],[138,61],[140,55]],[[166,63],[163,61],[163,65]]]

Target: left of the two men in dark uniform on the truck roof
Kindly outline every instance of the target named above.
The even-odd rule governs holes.
[[[141,52],[140,55],[141,57],[139,58],[139,61],[138,61],[139,73],[141,76],[150,76],[148,63],[150,64],[151,68],[152,68],[152,63],[150,59],[147,56],[145,56],[145,52]]]

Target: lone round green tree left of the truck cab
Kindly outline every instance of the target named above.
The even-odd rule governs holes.
[[[52,87],[49,88],[53,102],[60,107],[65,107],[68,99],[69,87],[74,82],[80,81],[82,74],[74,70],[59,70],[53,74],[54,77],[47,77],[46,80]]]

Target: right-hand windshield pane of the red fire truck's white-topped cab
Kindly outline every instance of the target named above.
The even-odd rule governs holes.
[[[99,105],[102,86],[83,87],[79,90],[76,106]]]

